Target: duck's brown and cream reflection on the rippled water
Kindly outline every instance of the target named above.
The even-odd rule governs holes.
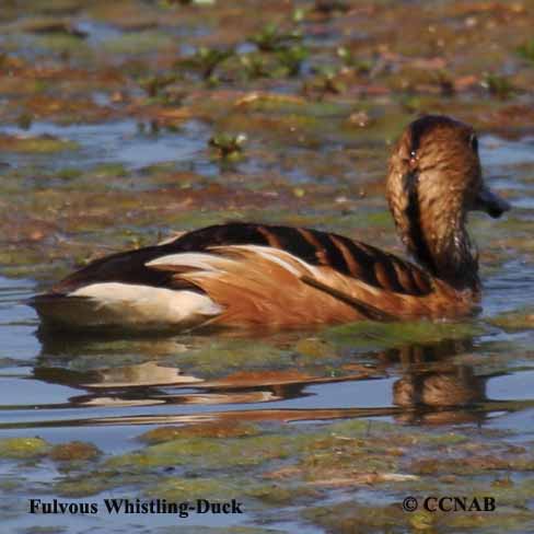
[[[270,343],[291,348],[298,339],[295,336],[278,336]],[[353,384],[353,409],[301,409],[297,418],[386,415],[400,422],[445,425],[481,421],[488,414],[486,381],[489,376],[478,375],[473,367],[456,362],[462,360],[456,357],[473,349],[469,339],[353,355],[350,362],[340,364],[336,375],[327,375],[321,365],[312,365],[275,370],[252,367],[216,378],[176,367],[181,355],[187,353],[191,344],[210,343],[199,337],[154,337],[128,343],[119,339],[100,343],[77,339],[73,343],[65,338],[43,341],[35,378],[84,390],[83,395],[69,399],[71,406],[78,407],[249,405],[304,397],[311,395],[311,384],[344,381]],[[121,363],[109,364],[117,355],[121,355]],[[83,371],[73,370],[72,362],[77,360],[85,360],[79,365]],[[125,363],[125,360],[129,361]],[[69,369],[65,368],[66,361]],[[383,408],[358,408],[358,382],[380,381],[385,376],[398,376],[393,384],[393,403],[384,395]],[[483,403],[485,408],[480,409]],[[280,419],[293,419],[291,410],[276,411],[280,413]],[[240,417],[257,420],[262,413],[266,419],[274,417],[272,410],[257,408],[240,411]],[[161,421],[154,419],[154,422]]]

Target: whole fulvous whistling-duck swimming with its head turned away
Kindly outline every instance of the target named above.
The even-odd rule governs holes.
[[[228,222],[93,260],[33,298],[43,327],[301,328],[461,317],[479,309],[472,210],[510,209],[483,179],[475,130],[443,115],[392,150],[386,200],[411,260],[309,228]]]

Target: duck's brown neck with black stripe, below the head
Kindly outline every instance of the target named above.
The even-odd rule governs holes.
[[[416,260],[455,289],[479,291],[478,257],[465,228],[465,211],[454,195],[425,195],[417,173],[405,176],[408,195],[403,242]]]

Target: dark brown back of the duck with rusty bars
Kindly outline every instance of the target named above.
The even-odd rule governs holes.
[[[170,243],[97,259],[66,278],[55,290],[72,291],[89,280],[92,283],[120,281],[176,287],[172,272],[147,267],[147,264],[169,254],[205,252],[227,245],[280,248],[311,265],[332,267],[370,286],[402,294],[422,295],[431,291],[430,278],[422,269],[373,246],[317,230],[246,222],[207,227]]]

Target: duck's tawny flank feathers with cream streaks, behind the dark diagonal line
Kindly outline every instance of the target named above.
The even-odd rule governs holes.
[[[329,283],[320,268],[279,248],[217,246],[162,256],[148,266],[173,274],[172,285],[196,287],[221,306],[222,312],[209,321],[211,325],[298,327],[359,316],[351,304],[303,280]]]

